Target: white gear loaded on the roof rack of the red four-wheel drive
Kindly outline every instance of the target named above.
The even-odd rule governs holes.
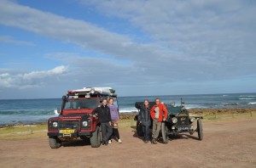
[[[82,89],[67,91],[67,95],[106,95],[116,96],[112,87],[84,87]]]

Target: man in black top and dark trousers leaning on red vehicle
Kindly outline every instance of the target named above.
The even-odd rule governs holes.
[[[108,145],[108,139],[112,135],[110,109],[107,105],[107,99],[102,100],[102,105],[93,110],[92,116],[99,117],[102,128],[102,145]]]

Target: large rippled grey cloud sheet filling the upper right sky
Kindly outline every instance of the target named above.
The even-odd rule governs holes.
[[[219,80],[256,72],[253,68],[256,3],[252,1],[81,0],[80,3],[96,8],[102,15],[129,20],[154,39],[161,47],[154,49],[158,59],[148,60],[161,67],[152,69],[150,64],[151,70],[174,70],[178,76],[186,73],[184,80],[189,76],[196,80]],[[146,64],[143,66],[149,69]]]

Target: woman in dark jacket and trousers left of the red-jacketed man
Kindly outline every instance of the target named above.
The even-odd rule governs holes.
[[[144,135],[144,143],[148,143],[149,141],[149,126],[151,125],[150,119],[150,109],[148,104],[148,99],[144,100],[144,104],[140,113],[138,115],[138,120],[143,125],[143,135]]]

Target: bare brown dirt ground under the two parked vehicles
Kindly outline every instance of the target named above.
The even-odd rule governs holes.
[[[145,144],[133,128],[123,141],[91,148],[82,141],[49,148],[48,137],[0,141],[0,167],[256,167],[256,119],[203,122],[203,141],[183,134]]]

